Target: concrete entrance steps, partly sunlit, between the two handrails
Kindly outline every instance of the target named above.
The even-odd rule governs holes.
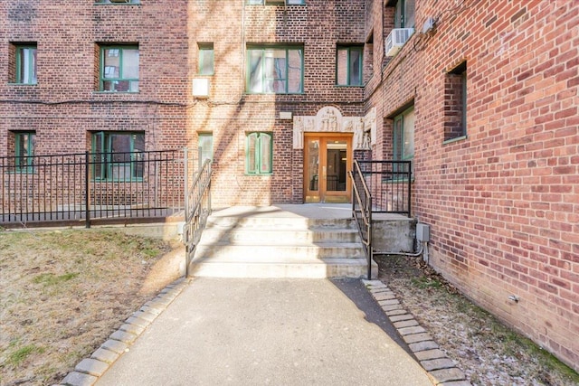
[[[367,264],[350,219],[212,215],[189,272],[221,278],[365,278]]]

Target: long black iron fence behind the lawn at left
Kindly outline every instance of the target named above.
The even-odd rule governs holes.
[[[0,157],[0,224],[90,227],[182,213],[185,160],[195,165],[185,150]]]

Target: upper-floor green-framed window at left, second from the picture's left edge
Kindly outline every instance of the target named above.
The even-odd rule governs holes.
[[[100,47],[100,90],[138,92],[138,47]]]

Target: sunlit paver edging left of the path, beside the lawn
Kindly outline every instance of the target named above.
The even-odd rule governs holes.
[[[117,361],[128,347],[133,344],[140,334],[157,319],[167,306],[183,291],[190,279],[179,278],[166,286],[157,297],[141,306],[137,312],[130,315],[119,330],[110,334],[109,339],[90,355],[76,365],[73,372],[69,372],[62,380],[62,385],[91,386],[100,376],[109,370],[110,365]]]

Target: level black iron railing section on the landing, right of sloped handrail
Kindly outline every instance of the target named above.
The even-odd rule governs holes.
[[[372,212],[411,216],[411,161],[356,161],[372,195]]]

